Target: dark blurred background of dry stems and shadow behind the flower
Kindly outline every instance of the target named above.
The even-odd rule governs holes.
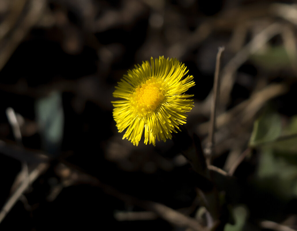
[[[297,229],[296,26],[296,1],[0,0],[0,207],[42,169],[0,230],[191,230],[121,197],[208,214],[176,140],[122,140],[110,101],[134,64],[176,57],[196,83],[176,139],[204,148],[219,46],[220,229]]]

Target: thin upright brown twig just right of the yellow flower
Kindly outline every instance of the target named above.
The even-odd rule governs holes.
[[[225,50],[225,47],[219,47],[219,51],[217,53],[217,60],[216,60],[216,70],[214,73],[214,100],[211,107],[210,125],[208,130],[208,143],[205,149],[207,165],[210,165],[211,156],[213,153],[214,130],[216,126],[216,108],[217,108],[217,101],[219,96],[219,74],[220,74],[221,56],[224,50]]]

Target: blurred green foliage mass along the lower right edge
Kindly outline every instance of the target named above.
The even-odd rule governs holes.
[[[266,110],[254,123],[250,146],[259,149],[257,183],[284,200],[297,196],[297,116]]]

